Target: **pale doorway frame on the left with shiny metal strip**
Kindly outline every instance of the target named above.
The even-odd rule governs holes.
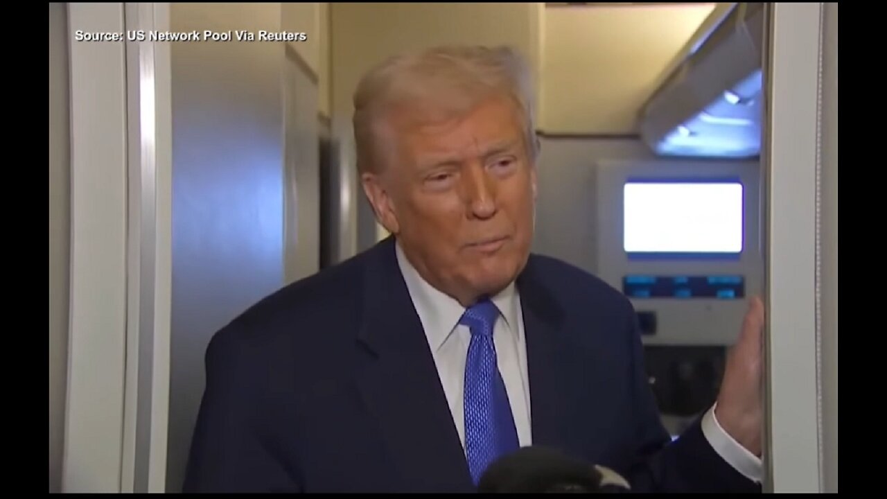
[[[163,492],[169,421],[169,4],[67,4],[71,264],[62,492]],[[118,42],[76,32],[119,33]]]

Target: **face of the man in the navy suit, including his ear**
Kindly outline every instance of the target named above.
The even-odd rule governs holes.
[[[389,123],[396,152],[379,187],[368,188],[383,225],[422,276],[462,305],[504,289],[530,253],[536,199],[514,105],[488,99],[459,119]]]

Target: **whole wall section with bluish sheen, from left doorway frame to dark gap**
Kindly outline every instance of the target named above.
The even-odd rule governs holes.
[[[171,4],[170,28],[317,33],[302,14],[318,4],[297,7]],[[318,44],[172,45],[168,491],[184,478],[210,338],[263,297],[316,273],[326,257],[322,204],[337,186],[321,115],[325,53]]]

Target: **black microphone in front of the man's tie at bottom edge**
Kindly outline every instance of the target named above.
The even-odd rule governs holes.
[[[477,488],[482,494],[618,494],[630,492],[631,487],[609,468],[585,463],[553,448],[530,446],[491,463]]]

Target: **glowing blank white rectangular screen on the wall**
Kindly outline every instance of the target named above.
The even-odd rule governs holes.
[[[629,182],[624,190],[628,253],[739,253],[742,184]]]

